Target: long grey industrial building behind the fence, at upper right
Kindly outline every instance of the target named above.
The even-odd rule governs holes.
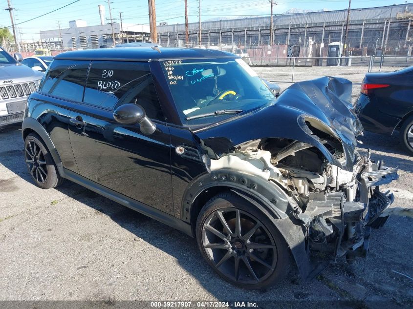
[[[349,15],[347,51],[354,54],[401,52],[413,45],[411,23],[413,4],[352,9]],[[281,14],[273,17],[273,42],[270,42],[270,17],[249,17],[189,23],[190,45],[327,45],[343,42],[348,10]],[[184,46],[185,24],[159,25],[163,46]],[[271,44],[272,43],[272,44]]]

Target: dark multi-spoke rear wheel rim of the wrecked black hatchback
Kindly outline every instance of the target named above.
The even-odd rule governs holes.
[[[25,160],[33,179],[39,184],[47,180],[47,164],[40,145],[34,140],[28,140],[24,148]]]

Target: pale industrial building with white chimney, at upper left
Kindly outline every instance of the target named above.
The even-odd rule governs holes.
[[[105,21],[105,7],[99,5],[100,25],[86,21],[69,21],[68,28],[40,31],[42,45],[52,49],[87,49],[102,45],[141,42],[150,39],[149,25]]]

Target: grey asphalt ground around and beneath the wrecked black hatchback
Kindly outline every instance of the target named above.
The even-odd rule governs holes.
[[[362,153],[371,148],[373,159],[399,167],[387,185],[391,207],[413,208],[413,157],[397,137],[366,132],[361,141]],[[372,230],[366,260],[341,258],[309,282],[293,270],[274,288],[235,288],[207,266],[195,239],[69,181],[36,187],[20,129],[0,133],[0,300],[358,300],[358,308],[409,308],[412,220],[392,215]]]

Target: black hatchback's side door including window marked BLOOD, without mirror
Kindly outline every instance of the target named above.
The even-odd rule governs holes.
[[[149,63],[93,61],[83,101],[69,115],[79,173],[173,215],[170,132]],[[156,131],[145,135],[139,124],[117,123],[113,110],[126,103],[141,105]]]

